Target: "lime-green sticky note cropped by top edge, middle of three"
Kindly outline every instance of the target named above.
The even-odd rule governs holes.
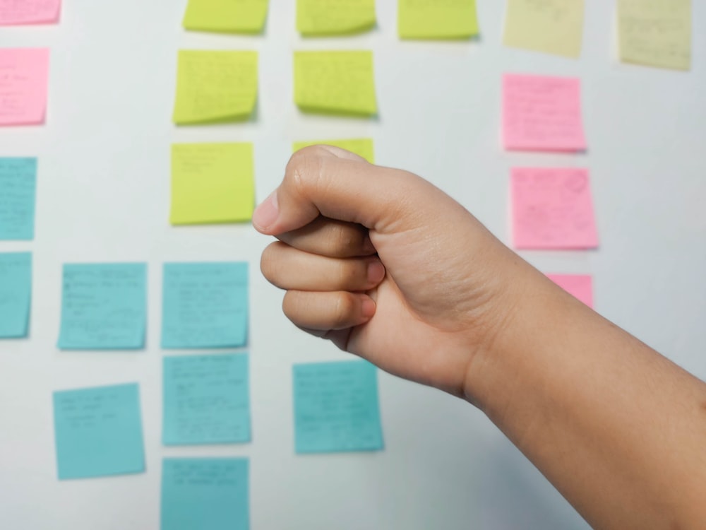
[[[375,0],[297,0],[297,31],[305,36],[361,33],[375,24]]]

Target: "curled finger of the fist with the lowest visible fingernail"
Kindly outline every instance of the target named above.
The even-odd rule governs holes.
[[[282,310],[300,328],[347,329],[368,322],[375,314],[375,302],[368,295],[347,291],[289,290],[282,300]]]

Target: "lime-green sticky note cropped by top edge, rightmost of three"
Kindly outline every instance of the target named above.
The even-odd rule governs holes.
[[[467,39],[478,35],[475,0],[399,0],[397,33],[403,39]]]

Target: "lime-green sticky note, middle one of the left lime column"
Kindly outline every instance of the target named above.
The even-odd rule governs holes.
[[[179,51],[174,123],[244,120],[257,96],[257,52]]]

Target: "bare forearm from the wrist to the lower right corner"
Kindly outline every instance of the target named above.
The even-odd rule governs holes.
[[[522,280],[522,278],[517,278]],[[596,528],[706,521],[706,385],[527,272],[467,395]]]

